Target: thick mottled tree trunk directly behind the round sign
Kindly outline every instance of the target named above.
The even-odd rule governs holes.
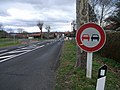
[[[76,25],[77,25],[77,30],[79,27],[85,23],[89,22],[89,11],[88,11],[88,0],[76,0]],[[75,67],[81,67],[85,68],[86,67],[86,52],[81,50],[77,46],[77,60]]]

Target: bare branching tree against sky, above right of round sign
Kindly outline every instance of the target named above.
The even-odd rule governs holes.
[[[115,1],[117,0],[90,0],[92,8],[97,14],[100,26],[102,26],[103,20],[106,16],[113,13]]]

